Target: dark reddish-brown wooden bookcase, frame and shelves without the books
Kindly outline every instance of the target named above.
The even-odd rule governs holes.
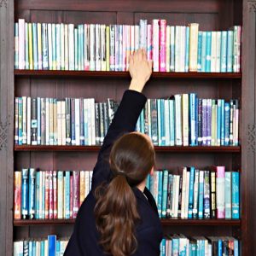
[[[165,219],[164,232],[187,236],[236,236],[241,255],[255,255],[256,185],[256,1],[0,1],[0,252],[12,255],[13,241],[48,234],[69,236],[74,220],[13,219],[14,170],[91,170],[99,147],[15,146],[15,96],[108,97],[120,100],[129,84],[125,72],[14,70],[14,22],[137,24],[140,19],[166,19],[168,24],[198,22],[201,30],[242,25],[241,73],[153,73],[144,93],[160,98],[196,92],[201,97],[237,98],[241,105],[239,147],[156,147],[157,167],[226,166],[241,171],[241,219]]]

